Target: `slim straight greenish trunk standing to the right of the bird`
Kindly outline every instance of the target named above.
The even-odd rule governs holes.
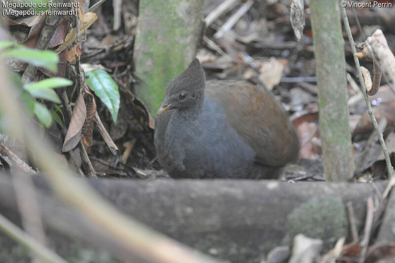
[[[325,179],[346,181],[352,178],[355,165],[339,1],[311,0],[310,9]]]

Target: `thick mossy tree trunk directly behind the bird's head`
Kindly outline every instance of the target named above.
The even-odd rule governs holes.
[[[172,78],[196,55],[203,26],[203,0],[140,0],[134,43],[136,95],[155,116]]]

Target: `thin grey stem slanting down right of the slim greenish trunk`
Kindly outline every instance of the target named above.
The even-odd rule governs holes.
[[[342,3],[342,2],[344,2],[344,0],[340,0],[340,2]],[[341,7],[341,10],[342,10],[342,14],[343,14],[344,26],[345,26],[346,31],[347,31],[347,36],[349,38],[350,45],[351,45],[351,48],[353,50],[353,54],[356,54],[356,44],[354,42],[353,35],[351,34],[351,29],[350,29],[350,25],[349,25],[347,14],[346,14],[346,8],[345,7]],[[380,57],[379,57],[379,59],[380,59]],[[363,76],[362,76],[362,73],[360,71],[359,60],[358,60],[358,58],[356,56],[354,56],[354,61],[355,61],[355,65],[356,65],[356,70],[358,71],[359,83],[360,83],[360,85],[362,87],[361,91],[362,91],[363,97],[365,99],[367,111],[369,113],[370,118],[372,119],[373,126],[374,126],[375,130],[378,131],[379,127],[378,127],[378,124],[377,124],[377,120],[376,120],[376,117],[373,114],[372,106],[370,105],[369,98],[367,96],[365,83],[363,82]],[[387,163],[387,170],[388,170],[388,174],[389,174],[390,182],[391,182],[392,180],[394,180],[393,179],[394,178],[394,168],[391,165],[390,156],[388,155],[387,147],[386,147],[386,145],[384,143],[383,134],[381,132],[379,134],[380,134],[379,140],[380,140],[381,147],[383,148],[384,156],[385,156],[386,163]],[[384,193],[384,194],[386,194],[386,193]],[[388,194],[388,192],[387,192],[387,194]]]

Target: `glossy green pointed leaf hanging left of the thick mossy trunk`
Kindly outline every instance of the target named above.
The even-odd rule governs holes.
[[[96,96],[107,106],[114,123],[117,125],[119,110],[119,90],[118,84],[110,74],[104,70],[94,70],[85,73],[86,83],[95,92]]]

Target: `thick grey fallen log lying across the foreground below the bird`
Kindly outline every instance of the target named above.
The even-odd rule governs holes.
[[[356,221],[363,223],[366,198],[380,196],[386,185],[254,180],[89,182],[120,211],[231,262],[259,262],[270,249],[288,243],[298,232],[321,238],[331,246],[340,236],[348,236],[344,204],[351,201]],[[6,177],[0,177],[0,213],[3,208],[17,212],[10,185]],[[98,247],[105,245],[125,261],[130,259],[127,248],[112,247],[111,239],[100,229],[44,188],[39,188],[38,201],[48,226]]]

